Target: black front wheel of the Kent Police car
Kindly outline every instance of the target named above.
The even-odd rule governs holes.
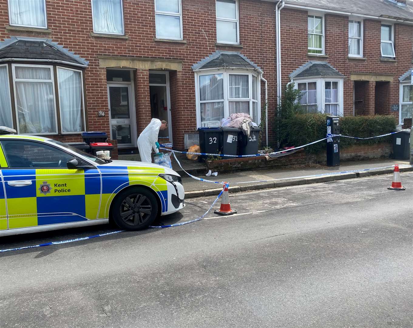
[[[146,228],[158,214],[155,196],[145,188],[133,187],[119,193],[114,200],[112,217],[115,223],[126,230]]]

